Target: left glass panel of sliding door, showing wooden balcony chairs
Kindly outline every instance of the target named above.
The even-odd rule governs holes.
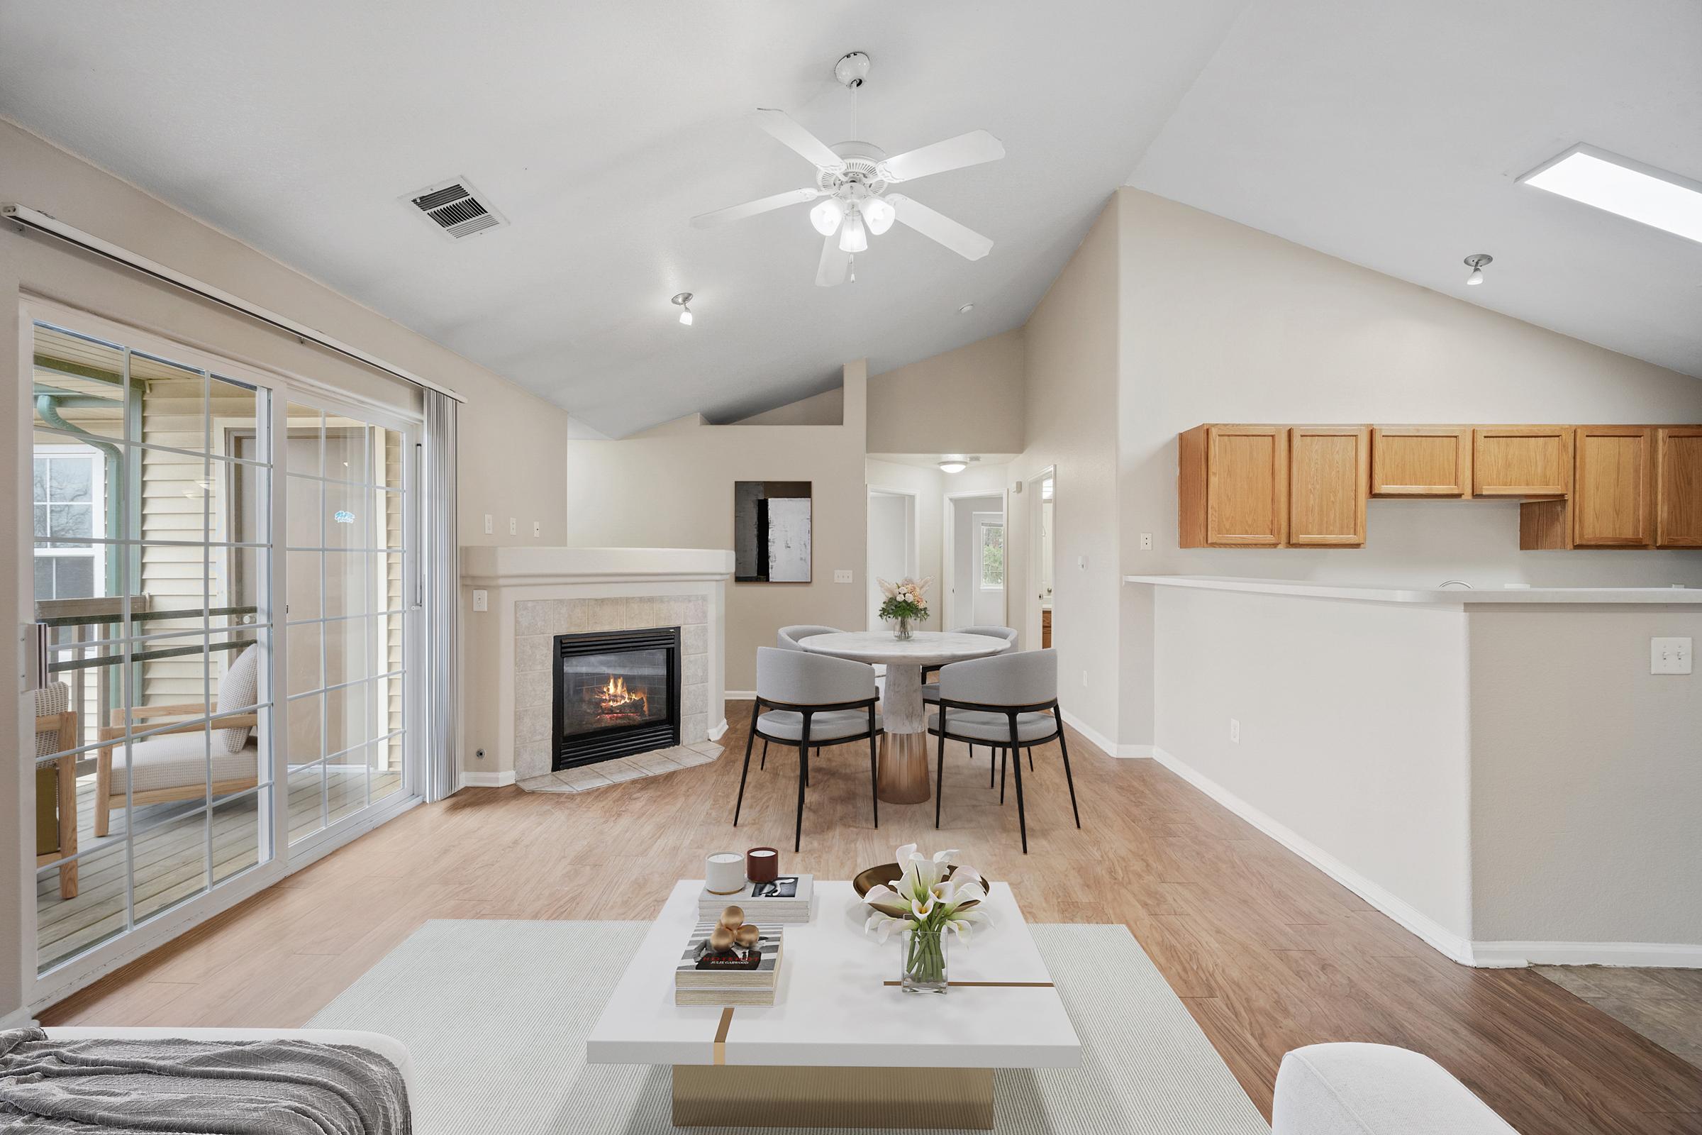
[[[46,972],[272,858],[271,391],[75,325],[29,349]]]

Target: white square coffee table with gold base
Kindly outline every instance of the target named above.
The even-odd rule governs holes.
[[[674,885],[585,1040],[591,1064],[667,1064],[676,1126],[991,1128],[994,1069],[1072,1069],[1081,1040],[1011,888],[992,929],[946,946],[946,994],[905,994],[900,946],[863,934],[851,883],[788,926],[773,1007],[674,1004],[701,880]],[[962,982],[962,985],[960,985]]]

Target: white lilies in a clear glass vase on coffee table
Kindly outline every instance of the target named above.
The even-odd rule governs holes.
[[[968,941],[970,927],[992,926],[980,910],[987,883],[975,868],[953,864],[957,851],[934,853],[933,859],[916,851],[916,844],[899,847],[899,881],[878,883],[863,895],[875,914],[863,924],[866,934],[880,941],[894,931],[905,934],[904,978],[917,985],[945,990],[945,931]]]

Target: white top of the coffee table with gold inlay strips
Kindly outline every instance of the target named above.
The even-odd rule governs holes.
[[[589,1064],[718,1064],[722,1011],[674,1004],[674,967],[698,922],[703,880],[674,885],[616,984],[591,1036]],[[1050,982],[1006,883],[987,897],[992,927],[946,944],[955,982]],[[786,927],[780,992],[769,1007],[734,1009],[725,1064],[805,1067],[1074,1069],[1081,1040],[1050,985],[905,994],[899,941],[863,934],[870,910],[851,883],[815,881],[815,915]]]

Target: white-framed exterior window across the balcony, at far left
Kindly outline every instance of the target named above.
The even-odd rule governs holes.
[[[100,594],[100,556],[89,538],[106,533],[104,468],[78,446],[36,446],[31,510],[36,519],[36,599]],[[48,543],[53,541],[53,543]]]

